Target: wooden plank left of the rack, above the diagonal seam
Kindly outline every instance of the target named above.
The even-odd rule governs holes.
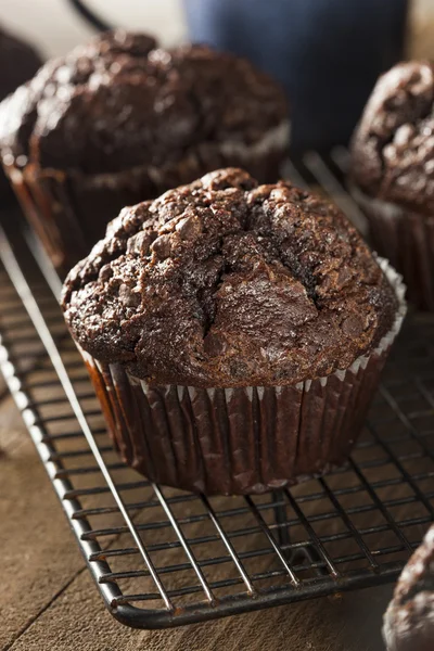
[[[84,566],[12,398],[0,404],[0,648]]]

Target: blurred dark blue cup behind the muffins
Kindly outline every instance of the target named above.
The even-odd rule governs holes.
[[[404,54],[407,0],[184,0],[190,36],[247,56],[286,89],[294,151],[345,143]]]

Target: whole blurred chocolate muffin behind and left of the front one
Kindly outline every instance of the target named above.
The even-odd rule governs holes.
[[[222,165],[276,180],[288,138],[283,91],[247,61],[122,30],[50,61],[0,107],[3,165],[61,270],[125,205]]]

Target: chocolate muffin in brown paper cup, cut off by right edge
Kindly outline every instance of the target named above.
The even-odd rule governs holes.
[[[434,310],[434,68],[400,63],[380,77],[352,145],[355,196],[374,247]]]

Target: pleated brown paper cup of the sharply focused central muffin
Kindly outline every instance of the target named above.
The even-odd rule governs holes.
[[[346,370],[286,386],[154,386],[81,350],[116,448],[149,480],[208,495],[258,494],[319,476],[348,457],[406,314]]]

